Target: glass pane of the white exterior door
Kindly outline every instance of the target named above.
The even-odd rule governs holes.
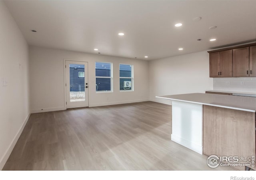
[[[70,102],[85,101],[84,65],[70,64]]]

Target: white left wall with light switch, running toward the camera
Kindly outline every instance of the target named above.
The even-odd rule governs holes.
[[[30,115],[28,79],[28,45],[0,1],[0,170]]]

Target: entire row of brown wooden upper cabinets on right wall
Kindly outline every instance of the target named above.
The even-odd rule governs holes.
[[[256,76],[256,43],[208,52],[210,77]]]

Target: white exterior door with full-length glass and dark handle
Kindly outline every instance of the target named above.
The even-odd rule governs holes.
[[[67,108],[88,107],[88,62],[66,60]]]

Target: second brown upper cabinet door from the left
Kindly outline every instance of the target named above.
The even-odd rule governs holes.
[[[232,77],[232,50],[220,52],[220,77]]]

